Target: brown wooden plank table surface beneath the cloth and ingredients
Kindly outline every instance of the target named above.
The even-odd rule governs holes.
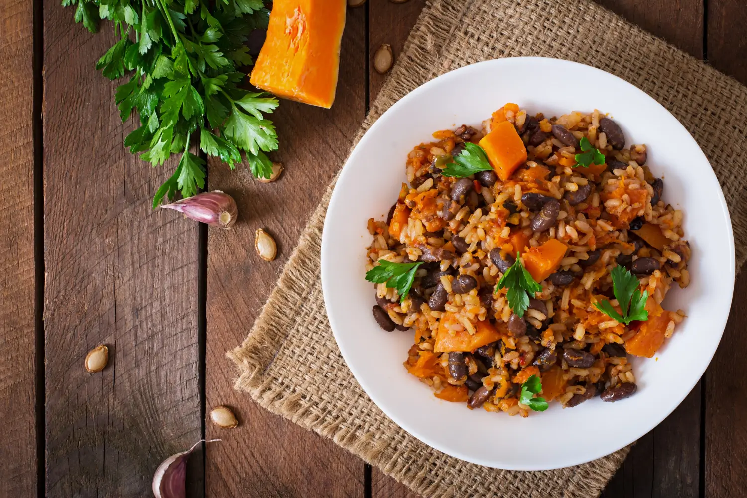
[[[747,83],[743,0],[602,0],[654,34]],[[190,497],[414,497],[403,485],[232,390],[224,357],[241,343],[424,0],[368,0],[347,13],[331,110],[282,102],[285,164],[261,184],[208,168],[238,201],[232,231],[207,230],[150,202],[174,164],[123,148],[116,83],[93,66],[113,38],[73,23],[58,0],[0,7],[0,497],[147,497],[155,467],[201,438]],[[260,261],[256,228],[279,243]],[[682,405],[641,438],[604,497],[747,495],[747,276],[713,362]],[[108,367],[84,372],[106,343]],[[694,345],[693,347],[697,347]],[[241,426],[205,423],[214,405]],[[742,441],[742,443],[740,443]],[[479,479],[479,476],[475,476]]]

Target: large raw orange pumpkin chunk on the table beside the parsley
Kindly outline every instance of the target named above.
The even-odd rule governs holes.
[[[276,0],[251,83],[323,108],[335,100],[345,0]]]

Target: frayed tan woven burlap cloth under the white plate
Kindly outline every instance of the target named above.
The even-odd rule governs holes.
[[[586,0],[429,1],[356,142],[390,105],[425,81],[480,60],[522,55],[604,69],[677,116],[721,182],[741,266],[747,255],[747,89]],[[368,399],[340,355],[324,309],[319,258],[331,193],[332,185],[254,328],[228,353],[238,368],[236,389],[426,497],[597,497],[629,448],[561,470],[489,469],[421,443]]]

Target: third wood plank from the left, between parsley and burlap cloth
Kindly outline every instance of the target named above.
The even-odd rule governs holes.
[[[364,464],[313,432],[270,414],[248,394],[232,389],[225,358],[241,343],[311,211],[347,156],[365,116],[365,10],[347,13],[340,78],[332,109],[281,101],[272,119],[280,137],[275,161],[285,166],[272,184],[251,178],[246,166],[229,171],[211,164],[211,189],[236,199],[239,219],[231,231],[208,231],[208,300],[205,396],[208,411],[231,405],[241,425],[231,431],[207,426],[208,497],[362,497]],[[276,261],[262,261],[254,233],[266,228],[279,245]]]

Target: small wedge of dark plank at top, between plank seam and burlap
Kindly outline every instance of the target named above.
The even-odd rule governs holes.
[[[368,6],[368,92],[369,102],[376,100],[387,75],[373,69],[373,54],[384,43],[391,45],[394,60],[402,52],[407,35],[418,20],[426,0],[409,0],[394,4],[385,0],[369,0]]]

